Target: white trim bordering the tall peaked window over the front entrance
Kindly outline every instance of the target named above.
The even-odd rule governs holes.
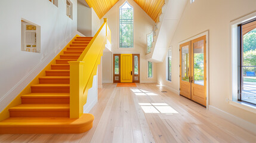
[[[122,7],[122,5],[125,4],[125,2],[128,2],[128,1],[124,1],[121,5],[119,5],[118,7],[118,49],[124,49],[124,50],[134,50],[135,49],[135,45],[134,45],[134,7],[132,6],[131,2],[128,2],[129,5],[131,5],[131,7],[133,8],[133,47],[132,48],[121,48],[120,47],[120,7]]]

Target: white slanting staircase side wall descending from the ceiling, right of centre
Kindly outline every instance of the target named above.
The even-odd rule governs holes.
[[[146,55],[147,59],[154,62],[164,60],[172,36],[177,28],[180,17],[186,7],[187,0],[168,0],[162,8],[162,14],[158,23],[158,29],[154,37],[151,52]]]

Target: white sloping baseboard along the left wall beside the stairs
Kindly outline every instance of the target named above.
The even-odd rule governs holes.
[[[67,36],[66,39],[61,41],[58,45],[59,48],[55,49],[52,54],[47,55],[46,57],[41,59],[41,62],[38,63],[32,70],[29,71],[13,88],[10,89],[2,98],[0,98],[0,112],[10,104],[14,98],[24,89],[26,86],[48,65],[48,63],[53,60],[53,58],[64,48],[64,46],[69,43],[74,36],[78,34],[77,31],[73,32],[70,36]]]

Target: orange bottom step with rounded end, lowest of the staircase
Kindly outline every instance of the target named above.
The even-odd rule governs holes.
[[[92,128],[93,120],[92,114],[82,114],[79,119],[10,117],[0,122],[0,133],[84,133]]]

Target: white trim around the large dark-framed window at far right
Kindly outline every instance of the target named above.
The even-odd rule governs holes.
[[[238,101],[238,25],[254,18],[256,18],[256,12],[229,23],[229,47],[232,51],[230,52],[232,61],[230,82],[232,84],[230,87],[231,94],[229,95],[229,98],[227,98],[230,105],[243,108],[244,110],[251,111],[252,113],[256,113],[256,106]]]

